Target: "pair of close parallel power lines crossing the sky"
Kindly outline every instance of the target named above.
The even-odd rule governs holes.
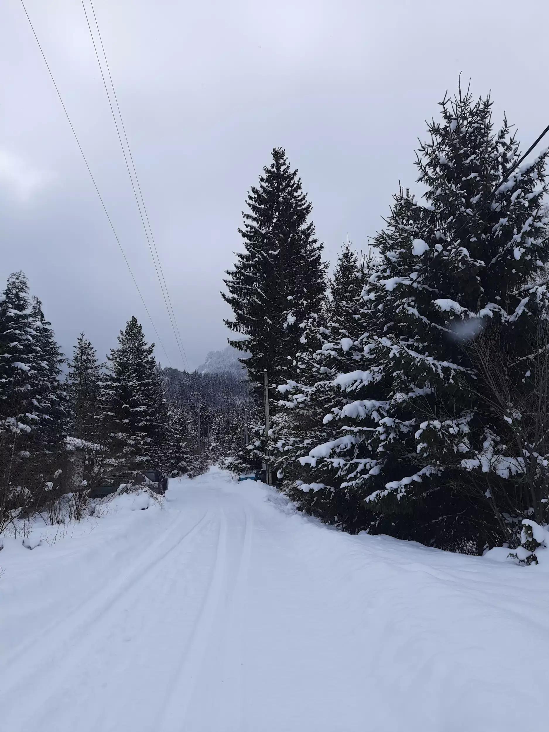
[[[96,45],[95,39],[94,39],[94,34],[91,31],[91,25],[90,25],[90,22],[89,22],[88,13],[86,11],[86,6],[84,5],[83,0],[81,0],[81,3],[82,3],[84,15],[86,15],[86,23],[88,24],[89,34],[91,36],[91,42],[94,45],[94,51],[95,51],[95,56],[97,58],[97,64],[98,64],[98,66],[100,68],[101,78],[103,80],[103,85],[105,86],[105,92],[107,94],[108,103],[109,103],[109,106],[111,108],[111,114],[113,116],[113,122],[115,124],[116,132],[118,134],[119,143],[120,143],[120,146],[122,148],[122,154],[124,155],[124,162],[126,163],[127,172],[128,172],[128,175],[130,176],[130,182],[132,184],[133,195],[135,196],[135,203],[137,203],[137,205],[138,205],[139,215],[141,217],[141,223],[143,225],[143,231],[145,231],[145,236],[146,236],[147,244],[149,245],[149,251],[150,251],[151,257],[152,257],[152,262],[154,264],[154,269],[155,269],[156,274],[157,274],[158,283],[160,284],[160,290],[162,291],[162,294],[163,294],[163,299],[164,299],[164,303],[165,303],[165,306],[166,306],[166,310],[168,310],[168,317],[170,318],[170,323],[171,323],[171,327],[172,327],[172,330],[173,330],[173,335],[174,335],[174,337],[176,339],[176,344],[177,344],[177,347],[179,348],[179,354],[181,355],[182,364],[183,364],[183,367],[184,367],[185,366],[185,362],[187,361],[187,354],[184,354],[182,337],[181,337],[181,334],[179,332],[179,326],[177,325],[175,312],[173,311],[173,305],[171,304],[171,297],[170,297],[170,294],[169,294],[169,291],[168,291],[168,285],[166,284],[166,281],[165,281],[164,272],[163,272],[163,269],[162,269],[162,264],[160,262],[160,256],[158,255],[158,250],[157,250],[156,242],[154,242],[154,236],[152,234],[152,228],[151,228],[151,224],[149,222],[149,215],[147,214],[147,211],[146,211],[146,206],[145,206],[145,201],[144,201],[144,198],[143,198],[143,193],[141,193],[141,184],[139,183],[138,174],[137,174],[137,171],[135,170],[135,163],[133,162],[133,156],[132,156],[132,151],[131,151],[131,148],[130,148],[130,143],[129,143],[128,139],[127,139],[126,129],[124,127],[124,120],[122,119],[122,113],[120,111],[120,106],[119,106],[119,103],[118,103],[118,98],[116,97],[116,90],[114,89],[113,78],[111,76],[111,69],[110,69],[110,67],[108,65],[107,54],[105,53],[105,47],[103,45],[103,41],[102,41],[102,37],[101,37],[101,31],[99,29],[99,24],[97,23],[97,16],[95,15],[95,10],[94,10],[93,3],[91,3],[91,0],[90,0],[91,10],[93,12],[94,20],[95,20],[95,26],[97,27],[97,34],[99,35],[99,39],[100,39],[100,42],[101,42],[102,53],[103,53],[103,56],[105,58],[105,65],[107,67],[108,76],[109,76],[109,79],[111,81],[111,87],[113,89],[113,95],[114,95],[114,99],[115,99],[115,102],[116,102],[116,108],[117,108],[118,113],[119,113],[120,122],[122,123],[122,131],[124,133],[124,138],[126,140],[126,145],[127,145],[128,152],[130,153],[130,161],[132,163],[133,173],[135,175],[135,181],[138,184],[139,195],[141,196],[141,204],[139,202],[139,198],[138,198],[137,191],[135,190],[135,184],[134,184],[133,179],[132,179],[132,173],[130,171],[130,165],[129,165],[128,160],[127,160],[126,150],[124,149],[124,144],[122,143],[122,136],[120,135],[119,124],[118,124],[118,121],[116,119],[116,115],[115,115],[114,110],[113,110],[113,105],[112,105],[112,102],[111,102],[111,95],[109,94],[108,87],[107,87],[107,83],[106,83],[106,80],[105,80],[105,74],[103,73],[103,70],[102,70],[101,61],[100,61],[100,58],[99,58],[99,53],[97,51],[97,45]],[[146,228],[146,225],[145,225],[145,221],[143,219],[143,213],[141,212],[141,205],[143,206],[143,212],[145,213],[145,217],[146,217],[146,220],[147,220],[147,224],[149,225],[149,231],[151,233],[150,239],[149,239],[149,232],[147,231],[147,228]],[[157,260],[158,260],[158,266],[157,266],[157,262],[156,262],[156,260],[154,258],[154,254],[153,254],[153,251],[152,251],[151,240],[152,240],[152,243],[154,245],[154,252],[156,253],[156,257],[157,257]],[[163,281],[160,279],[160,273],[158,271],[159,267],[160,267],[160,273],[162,274],[162,280]],[[168,300],[166,300],[166,296],[168,296]],[[168,307],[168,301],[169,301],[169,307]],[[171,312],[170,312],[170,308],[171,308]],[[177,332],[176,332],[176,328],[177,328]],[[179,334],[179,340],[178,340],[178,334]],[[187,362],[187,368],[188,367],[189,367],[189,365],[188,365],[188,362]]]

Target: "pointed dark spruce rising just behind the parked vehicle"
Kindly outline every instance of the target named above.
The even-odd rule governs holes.
[[[133,316],[111,349],[102,390],[102,422],[113,466],[120,471],[146,468],[157,458],[165,430],[163,386],[154,361],[154,343],[146,343]]]

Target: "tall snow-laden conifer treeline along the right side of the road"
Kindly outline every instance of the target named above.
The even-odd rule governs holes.
[[[482,553],[547,523],[548,153],[513,169],[491,107],[444,98],[417,150],[422,195],[400,187],[366,255],[347,243],[330,277],[282,149],[250,189],[224,297],[256,419],[231,464],[270,463],[346,531]]]

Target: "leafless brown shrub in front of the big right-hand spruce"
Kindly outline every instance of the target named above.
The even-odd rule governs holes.
[[[497,427],[496,449],[493,455],[486,454],[488,467],[493,468],[486,471],[486,482],[500,523],[509,516],[534,518],[541,524],[548,516],[549,321],[545,313],[531,316],[527,343],[526,355],[518,353],[506,326],[495,322],[468,346],[481,377],[479,402],[487,421]],[[491,473],[495,479],[489,480]]]

